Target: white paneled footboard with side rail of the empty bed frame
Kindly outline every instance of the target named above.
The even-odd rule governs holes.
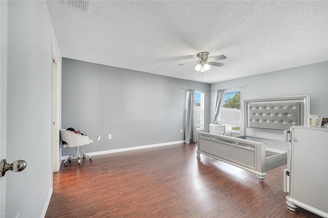
[[[287,163],[287,153],[265,158],[262,142],[203,132],[198,132],[197,156],[200,154],[254,172],[260,182],[267,176],[266,170]]]

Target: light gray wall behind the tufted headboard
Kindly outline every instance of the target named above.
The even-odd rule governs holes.
[[[211,123],[216,90],[242,88],[240,98],[266,98],[310,94],[310,114],[328,117],[328,62],[309,64],[211,84]],[[241,125],[243,126],[243,125]],[[242,128],[241,128],[241,134]]]

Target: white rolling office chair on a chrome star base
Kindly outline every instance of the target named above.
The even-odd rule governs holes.
[[[76,147],[76,155],[70,155],[64,161],[65,166],[67,166],[68,161],[71,161],[72,159],[75,159],[75,158],[77,158],[77,160],[78,160],[78,165],[82,164],[81,160],[80,160],[82,157],[84,159],[86,157],[89,157],[90,161],[92,161],[92,157],[90,155],[85,155],[85,154],[80,155],[80,146],[88,145],[93,142],[88,136],[79,135],[79,134],[73,133],[72,131],[66,130],[66,129],[60,129],[59,131],[60,131],[61,140],[63,140],[64,142],[67,143],[66,146]]]

